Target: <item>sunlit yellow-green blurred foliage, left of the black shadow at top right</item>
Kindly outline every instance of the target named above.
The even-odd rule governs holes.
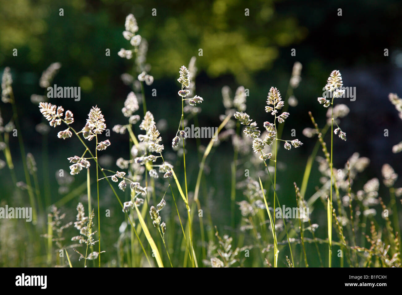
[[[60,8],[64,16],[59,16]],[[153,8],[156,16],[152,16]],[[278,47],[307,34],[295,17],[278,16],[274,2],[265,0],[185,5],[152,0],[15,0],[2,1],[0,11],[1,64],[7,60],[14,64],[10,66],[41,72],[51,62],[60,61],[78,77],[97,72],[96,68],[113,73],[122,64],[117,51],[130,48],[122,36],[129,13],[137,18],[138,33],[149,43],[148,60],[156,78],[176,76],[178,66],[188,64],[202,49],[203,56],[197,60],[200,70],[211,77],[232,74],[238,82],[248,82],[252,72],[269,68]],[[21,58],[12,59],[14,48]],[[111,49],[111,57],[105,57],[106,48]],[[106,82],[97,78],[100,84]]]

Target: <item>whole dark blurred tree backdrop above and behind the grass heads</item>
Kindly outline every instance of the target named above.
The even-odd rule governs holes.
[[[60,8],[64,16],[59,16]],[[156,16],[152,15],[154,8]],[[339,8],[342,16],[337,14]],[[303,64],[302,81],[294,93],[300,104],[289,120],[295,118],[300,126],[310,124],[307,110],[319,108],[317,90],[335,68],[347,77],[346,85],[351,76],[359,81],[361,73],[375,73],[383,67],[377,84],[366,80],[370,95],[380,93],[375,96],[386,99],[388,92],[398,92],[391,85],[396,79],[390,69],[398,58],[397,67],[402,67],[400,0],[0,1],[0,71],[11,68],[16,99],[21,102],[19,111],[25,117],[22,125],[34,130],[39,122],[36,106],[25,107],[22,102],[31,104],[31,94],[44,94],[39,78],[56,61],[62,68],[54,83],[81,86],[82,91],[79,104],[70,100],[60,104],[83,118],[88,108],[100,104],[109,112],[105,115],[111,124],[120,123],[113,120],[121,116],[130,91],[120,75],[131,73],[134,62],[117,55],[121,48],[131,49],[122,35],[129,13],[137,18],[139,35],[148,41],[149,74],[155,81],[145,91],[148,97],[151,88],[158,89],[158,97],[152,100],[158,118],[173,110],[170,105],[177,94],[178,69],[188,65],[192,56],[197,57],[199,70],[197,94],[205,98],[205,111],[200,114],[205,124],[219,123],[223,108],[220,90],[226,84],[233,90],[239,85],[250,89],[249,110],[265,103],[271,86],[285,95],[295,61]],[[12,55],[14,48],[18,56]],[[291,48],[296,48],[296,56],[290,55]],[[389,57],[384,57],[384,48],[389,49]],[[110,56],[105,55],[106,49]],[[199,49],[203,56],[198,56]],[[348,77],[346,69],[354,72]],[[387,79],[390,86],[382,89]],[[384,105],[392,109],[388,101]],[[8,114],[6,110],[2,113]],[[265,113],[250,115],[262,120]],[[35,140],[32,136],[30,143]]]

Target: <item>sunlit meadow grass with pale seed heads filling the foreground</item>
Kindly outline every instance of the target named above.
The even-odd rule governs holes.
[[[345,104],[336,104],[345,96],[338,70],[330,73],[324,95],[318,97],[327,111],[314,116],[326,116],[325,124],[319,126],[308,112],[312,125],[304,127],[305,139],[294,135],[283,139],[286,119],[297,106],[293,90],[301,81],[300,63],[294,64],[285,96],[276,87],[267,89],[266,105],[260,110],[246,113],[248,89],[239,86],[232,95],[224,86],[222,123],[211,128],[198,120],[204,98],[196,95],[196,58],[192,57],[188,66],[178,65],[177,112],[166,112],[169,118],[181,113],[170,145],[158,125],[165,118],[154,117],[154,102],[146,97],[146,87],[154,78],[146,64],[148,45],[138,31],[137,20],[130,14],[123,37],[131,49],[121,49],[118,55],[133,60],[132,74],[121,76],[133,91],[119,106],[123,123],[111,127],[112,134],[108,129],[111,120],[104,116],[101,105],[95,104],[87,117],[78,118],[74,110],[65,111],[46,96],[31,97],[43,115],[38,137],[56,136],[49,127],[61,128],[57,131],[60,145],[74,141],[80,148],[80,154],[62,159],[70,173],[57,171],[59,192],[65,197],[53,204],[51,180],[46,177],[47,141],[42,145],[40,171],[34,155],[25,154],[12,76],[9,68],[4,70],[2,102],[12,105],[13,116],[5,123],[0,115],[0,150],[4,154],[0,168],[8,169],[16,194],[8,206],[32,208],[32,223],[0,221],[0,266],[401,266],[398,211],[402,188],[396,187],[398,175],[392,166],[384,164],[382,181],[372,178],[363,185],[357,179],[369,165],[368,158],[355,153],[343,167],[334,167],[334,158],[342,153],[334,148],[334,141],[346,144],[347,139],[340,119],[349,113]],[[59,63],[51,64],[43,72],[40,86],[51,85],[60,68]],[[317,86],[317,93],[320,89]],[[402,99],[397,94],[390,94],[389,99],[402,114]],[[267,121],[259,129],[249,113],[264,109]],[[201,145],[199,136],[188,131],[189,125],[206,134],[207,145]],[[14,132],[18,133],[23,180],[18,180],[11,156],[10,135]],[[105,164],[104,156],[114,148],[117,137],[127,142],[125,152],[113,164]],[[305,140],[316,143],[304,160],[304,174],[297,183],[292,167],[282,167],[283,162],[292,161],[295,148],[306,146]],[[188,141],[193,145],[187,145]],[[401,150],[399,143],[392,151]],[[313,170],[314,162],[318,171]],[[38,174],[43,175],[43,183]],[[80,176],[85,181],[76,184]],[[317,183],[313,177],[319,178],[320,186],[308,195],[308,186]],[[290,203],[285,188],[278,185],[281,178],[293,182],[288,188],[292,191]],[[224,195],[215,192],[217,182],[228,184]],[[389,198],[380,197],[382,186]],[[105,205],[108,195],[113,196],[117,210]],[[386,204],[384,199],[390,202]],[[68,211],[68,202],[74,203],[76,211]],[[2,201],[1,207],[5,205]],[[25,244],[25,239],[29,243]]]

